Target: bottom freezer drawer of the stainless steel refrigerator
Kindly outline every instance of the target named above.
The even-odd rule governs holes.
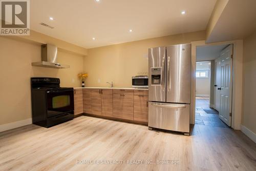
[[[148,126],[189,132],[189,104],[148,103]]]

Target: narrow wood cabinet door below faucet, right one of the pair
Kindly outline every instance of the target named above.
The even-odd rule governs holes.
[[[101,90],[101,114],[107,117],[113,117],[113,90]]]

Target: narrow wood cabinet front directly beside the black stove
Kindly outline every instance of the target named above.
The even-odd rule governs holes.
[[[83,113],[82,89],[74,89],[74,115]]]

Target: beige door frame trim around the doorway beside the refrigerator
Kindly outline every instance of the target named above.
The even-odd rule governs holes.
[[[205,41],[191,42],[191,106],[190,124],[195,124],[196,111],[196,49],[201,46],[233,44],[232,71],[232,120],[231,128],[241,129],[242,116],[242,87],[243,87],[243,40],[205,43]]]

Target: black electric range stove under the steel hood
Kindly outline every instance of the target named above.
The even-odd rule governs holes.
[[[74,119],[74,89],[58,78],[31,78],[33,124],[51,127]]]

